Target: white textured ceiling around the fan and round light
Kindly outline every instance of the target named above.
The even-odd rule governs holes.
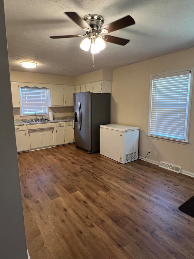
[[[4,5],[10,70],[77,76],[194,47],[193,0],[4,0]],[[84,34],[64,12],[99,14],[104,25],[129,14],[136,24],[110,35],[131,41],[106,43],[93,67],[92,54],[79,47],[82,38],[49,38]],[[21,61],[38,66],[26,69]]]

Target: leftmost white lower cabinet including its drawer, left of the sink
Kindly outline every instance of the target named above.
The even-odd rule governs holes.
[[[15,139],[17,152],[28,151],[30,149],[27,126],[15,126]]]

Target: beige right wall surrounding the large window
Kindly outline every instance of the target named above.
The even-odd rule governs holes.
[[[164,161],[194,172],[194,92],[189,128],[189,145],[148,138],[150,74],[194,66],[194,48],[113,70],[111,123],[140,128],[139,155]],[[153,152],[158,153],[157,158]]]

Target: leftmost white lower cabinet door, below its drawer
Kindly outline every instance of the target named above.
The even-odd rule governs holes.
[[[27,151],[30,149],[28,131],[15,131],[17,151]]]

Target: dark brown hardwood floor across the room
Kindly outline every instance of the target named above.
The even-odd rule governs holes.
[[[194,178],[75,145],[18,154],[31,259],[194,258]]]

